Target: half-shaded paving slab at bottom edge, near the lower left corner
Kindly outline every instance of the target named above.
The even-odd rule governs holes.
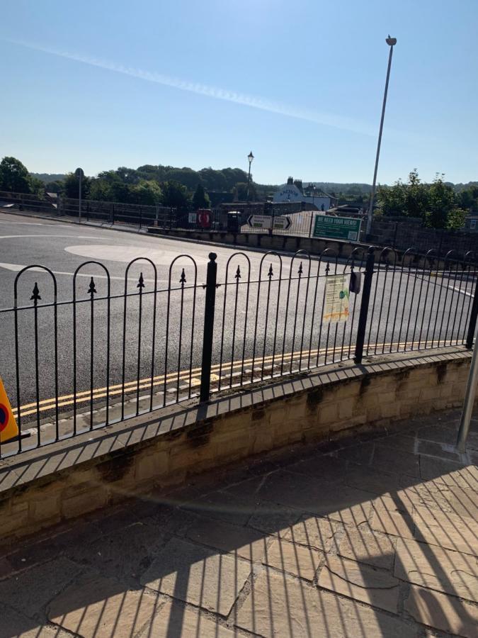
[[[84,638],[131,638],[151,627],[161,603],[113,578],[86,574],[52,600],[48,618]]]

